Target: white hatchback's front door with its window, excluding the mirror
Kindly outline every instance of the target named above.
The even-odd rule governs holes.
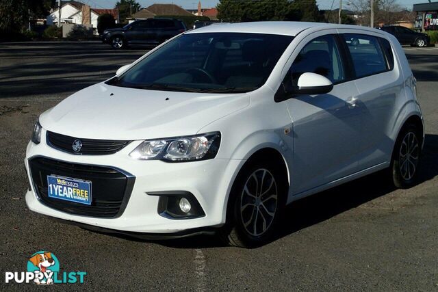
[[[294,137],[294,195],[357,172],[360,139],[358,92],[354,81],[347,81],[335,34],[313,35],[303,42],[285,79],[292,78],[296,85],[302,73],[314,72],[330,79],[334,87],[328,94],[299,94],[286,101]]]

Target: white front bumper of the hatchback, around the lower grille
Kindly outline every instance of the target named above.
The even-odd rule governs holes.
[[[89,228],[107,228],[128,233],[181,233],[198,228],[219,227],[225,222],[226,204],[236,170],[244,163],[237,159],[209,159],[185,163],[138,161],[129,152],[141,141],[134,141],[112,155],[72,155],[47,145],[45,130],[40,144],[29,142],[25,166],[31,188],[26,203],[31,211],[61,220],[87,224]],[[29,159],[50,157],[60,161],[118,168],[136,177],[131,196],[118,217],[88,217],[52,209],[41,202],[29,172]],[[159,197],[146,193],[157,191],[188,191],[198,200],[205,216],[193,219],[170,219],[157,212]]]

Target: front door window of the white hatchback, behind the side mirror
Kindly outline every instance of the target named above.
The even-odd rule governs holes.
[[[311,40],[292,63],[292,85],[296,86],[298,78],[305,72],[313,72],[339,83],[346,79],[341,56],[335,38],[332,35],[320,36]]]

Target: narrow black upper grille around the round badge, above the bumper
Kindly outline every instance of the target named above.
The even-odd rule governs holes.
[[[82,147],[79,152],[73,151],[73,142],[80,140]],[[96,140],[70,137],[47,131],[47,144],[58,150],[83,155],[108,155],[122,150],[131,141]]]

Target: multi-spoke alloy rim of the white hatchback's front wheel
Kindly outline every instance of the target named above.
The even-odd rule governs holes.
[[[264,168],[255,170],[244,185],[240,216],[246,232],[258,237],[270,228],[277,209],[278,190],[274,176]]]

